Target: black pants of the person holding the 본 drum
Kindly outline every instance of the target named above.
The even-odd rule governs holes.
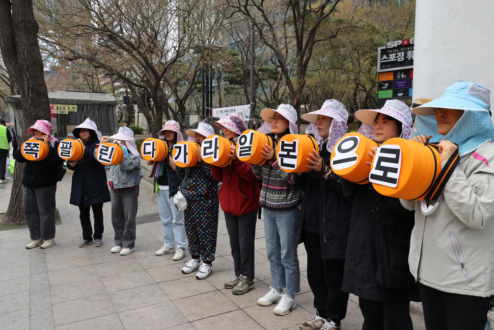
[[[314,294],[314,307],[320,317],[337,325],[346,316],[348,293],[343,292],[344,259],[322,259],[319,234],[302,231],[307,251],[307,279]]]

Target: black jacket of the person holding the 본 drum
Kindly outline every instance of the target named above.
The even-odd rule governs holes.
[[[324,163],[329,166],[331,154],[322,146]],[[331,173],[327,180],[311,172],[295,175],[297,186],[303,192],[299,229],[319,234],[321,255],[324,259],[345,259],[350,227],[350,202],[343,197],[340,177]],[[300,240],[301,231],[298,231]]]

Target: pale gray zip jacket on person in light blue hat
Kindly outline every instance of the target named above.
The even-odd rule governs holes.
[[[421,210],[425,201],[401,200],[416,210],[408,264],[420,283],[463,295],[494,294],[493,186],[494,145],[484,142],[460,158],[432,213]]]

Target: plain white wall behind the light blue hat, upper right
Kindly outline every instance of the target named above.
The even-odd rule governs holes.
[[[494,1],[416,0],[416,5],[413,98],[440,97],[458,80],[494,93]]]

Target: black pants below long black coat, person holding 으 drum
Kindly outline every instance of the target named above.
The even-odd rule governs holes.
[[[410,301],[380,302],[359,297],[364,316],[362,330],[413,330]]]

